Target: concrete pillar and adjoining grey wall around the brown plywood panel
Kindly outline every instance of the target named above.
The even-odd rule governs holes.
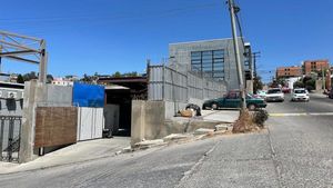
[[[24,83],[23,116],[21,126],[19,162],[36,159],[38,150],[34,146],[36,107],[71,107],[72,88],[44,85],[32,80]]]

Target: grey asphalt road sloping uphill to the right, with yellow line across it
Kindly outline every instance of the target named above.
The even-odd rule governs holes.
[[[269,129],[0,176],[20,187],[333,187],[333,100],[270,103]]]

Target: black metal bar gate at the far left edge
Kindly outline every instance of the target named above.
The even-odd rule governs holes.
[[[18,161],[22,117],[0,116],[0,161]]]

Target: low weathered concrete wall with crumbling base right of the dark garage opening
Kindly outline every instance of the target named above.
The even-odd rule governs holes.
[[[182,117],[165,118],[171,107],[165,101],[132,101],[131,145],[151,139],[163,138],[171,133],[193,132],[198,128],[214,129],[221,121],[193,120]],[[173,111],[173,110],[172,110]]]

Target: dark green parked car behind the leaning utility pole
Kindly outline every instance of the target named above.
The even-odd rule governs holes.
[[[261,98],[254,98],[251,95],[246,95],[246,107],[249,110],[255,110],[258,108],[265,108],[268,105]],[[225,97],[204,101],[202,109],[219,109],[219,108],[240,108],[241,97],[239,91],[229,92]]]

